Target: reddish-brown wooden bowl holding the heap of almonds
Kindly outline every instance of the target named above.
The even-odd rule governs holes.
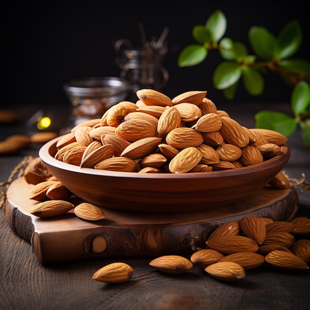
[[[136,173],[80,168],[55,159],[58,138],[39,156],[49,171],[72,193],[90,203],[118,210],[172,213],[200,211],[255,195],[288,162],[291,151],[262,163],[198,173]]]

